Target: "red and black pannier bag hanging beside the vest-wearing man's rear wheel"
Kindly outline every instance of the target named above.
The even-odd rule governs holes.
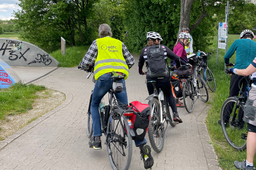
[[[131,123],[135,133],[135,136],[133,136],[132,139],[143,141],[148,131],[150,107],[148,104],[142,104],[139,101],[131,102],[130,107],[135,111],[135,114],[131,116]]]

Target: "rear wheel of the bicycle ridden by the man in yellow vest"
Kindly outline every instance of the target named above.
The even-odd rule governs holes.
[[[108,155],[109,155],[110,164],[114,170],[128,170],[130,168],[131,161],[132,161],[132,136],[130,135],[130,131],[126,130],[130,127],[128,125],[127,119],[124,118],[124,116],[120,118],[121,114],[122,113],[118,109],[114,109],[115,116],[112,119],[113,132],[116,131],[115,125],[117,126],[120,125],[121,128],[119,130],[117,129],[116,133],[113,134],[113,136],[115,136],[115,138],[113,139],[113,142],[110,142],[109,140],[106,141],[108,142],[107,146],[108,146]],[[111,127],[111,117],[109,117],[108,126],[107,126],[107,130],[108,130],[107,133],[109,136],[111,136],[110,127]],[[120,134],[118,132],[120,132]],[[126,141],[126,138],[128,139],[127,141]],[[125,147],[124,145],[125,142],[126,144],[128,142],[128,147]],[[117,146],[115,146],[114,143],[117,144]],[[125,150],[128,152],[128,153],[125,153],[125,156],[123,156],[121,152],[118,151],[118,147],[120,150],[122,146],[125,147]],[[124,149],[123,149],[123,152],[124,152]],[[114,158],[113,158],[113,154],[114,154]],[[122,159],[124,160],[124,157],[126,158],[126,162],[122,164],[119,161],[121,161]]]

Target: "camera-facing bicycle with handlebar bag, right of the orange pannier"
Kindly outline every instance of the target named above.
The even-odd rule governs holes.
[[[197,99],[200,98],[204,102],[207,102],[209,99],[206,83],[200,75],[200,69],[198,69],[201,61],[202,58],[196,56],[196,54],[188,55],[188,63],[193,66],[194,74],[187,79],[181,79],[181,82],[183,82],[181,84],[183,86],[183,101],[188,113],[191,113],[194,109],[196,102],[194,96],[197,96]]]

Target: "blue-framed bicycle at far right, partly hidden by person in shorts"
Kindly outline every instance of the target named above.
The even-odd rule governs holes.
[[[244,76],[244,78],[246,77],[249,78],[249,76]],[[240,91],[239,97],[234,96],[227,98],[222,105],[220,113],[220,121],[223,134],[228,144],[230,144],[235,150],[238,151],[246,150],[246,139],[248,131],[247,123],[243,121],[243,113],[245,110],[245,104],[248,98],[250,86],[251,80],[249,78],[245,93]]]

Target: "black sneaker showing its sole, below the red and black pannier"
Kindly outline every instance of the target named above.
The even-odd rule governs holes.
[[[151,148],[149,145],[145,145],[145,143],[142,143],[139,145],[140,148],[140,159],[143,159],[144,162],[144,168],[148,169],[151,168],[154,165],[154,159],[151,155]]]

